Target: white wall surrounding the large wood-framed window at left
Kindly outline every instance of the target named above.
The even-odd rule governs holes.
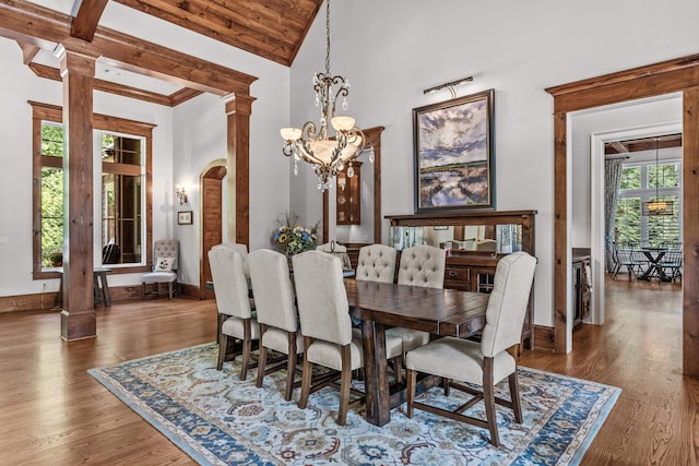
[[[58,279],[34,280],[32,275],[32,107],[27,100],[62,105],[62,84],[37,77],[22,64],[22,51],[16,43],[0,38],[0,138],[3,148],[0,159],[0,296],[24,295],[58,289]],[[171,180],[171,108],[141,100],[94,93],[94,111],[156,124],[153,129],[154,205],[164,202],[158,190]],[[171,223],[161,212],[154,214],[153,234],[171,235]],[[95,223],[98,227],[99,223]],[[110,285],[139,284],[140,274],[111,275]]]

